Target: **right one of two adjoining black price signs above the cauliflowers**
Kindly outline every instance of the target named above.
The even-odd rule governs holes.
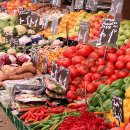
[[[31,12],[30,26],[38,27],[40,22],[40,14],[37,12]]]

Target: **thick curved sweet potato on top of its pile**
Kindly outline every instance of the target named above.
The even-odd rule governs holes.
[[[25,72],[31,72],[33,74],[36,74],[37,69],[32,65],[25,65],[25,66],[19,67],[19,69],[17,69],[15,72],[16,72],[16,74],[22,74]]]

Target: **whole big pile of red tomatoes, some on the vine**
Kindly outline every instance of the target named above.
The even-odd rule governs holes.
[[[70,70],[67,98],[81,100],[85,96],[85,85],[89,97],[100,84],[111,84],[130,75],[130,39],[120,49],[86,44],[72,46],[55,62]]]

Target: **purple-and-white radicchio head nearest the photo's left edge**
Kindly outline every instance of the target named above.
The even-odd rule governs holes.
[[[17,62],[17,58],[13,54],[4,54],[1,59],[5,61],[6,65],[15,64]]]

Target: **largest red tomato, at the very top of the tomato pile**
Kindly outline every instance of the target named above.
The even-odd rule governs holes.
[[[77,53],[79,56],[88,56],[91,53],[91,47],[88,45],[80,45],[78,46]]]

